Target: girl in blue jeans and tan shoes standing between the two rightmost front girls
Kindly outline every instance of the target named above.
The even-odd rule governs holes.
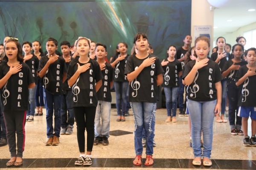
[[[180,61],[175,59],[176,46],[171,45],[167,49],[167,62],[162,61],[164,74],[163,90],[166,96],[167,118],[166,122],[177,122],[177,97],[179,90],[179,77],[181,75],[182,66]]]

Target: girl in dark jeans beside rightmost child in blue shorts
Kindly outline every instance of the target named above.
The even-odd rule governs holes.
[[[247,64],[246,61],[242,61],[244,47],[241,44],[236,44],[232,47],[232,54],[234,58],[225,63],[222,77],[227,77],[227,98],[229,102],[228,118],[230,122],[232,135],[244,135],[241,130],[242,118],[237,116],[238,114],[238,100],[241,93],[241,86],[236,86],[236,73],[241,66]],[[235,122],[236,121],[236,122]]]

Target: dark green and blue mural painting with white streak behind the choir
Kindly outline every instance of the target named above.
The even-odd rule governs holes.
[[[134,35],[145,32],[154,54],[164,58],[170,44],[183,45],[190,25],[191,0],[0,2],[0,41],[11,35],[43,47],[48,37],[73,44],[83,36],[105,43],[113,54],[117,43],[131,49]]]

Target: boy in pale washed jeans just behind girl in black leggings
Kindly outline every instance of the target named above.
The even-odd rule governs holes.
[[[95,115],[95,140],[93,145],[98,145],[102,142],[102,145],[108,145],[109,130],[110,130],[110,112],[111,112],[111,87],[114,84],[113,68],[110,63],[105,61],[105,57],[108,55],[107,46],[102,43],[96,43],[95,55],[97,62],[102,70],[104,77],[102,86],[97,92],[98,105]],[[100,122],[102,119],[102,123]]]

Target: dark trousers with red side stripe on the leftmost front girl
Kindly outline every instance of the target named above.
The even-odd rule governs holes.
[[[25,124],[26,124],[26,111],[8,110],[3,111],[4,120],[7,129],[7,142],[11,157],[23,156],[25,146]],[[17,134],[17,145],[16,145]],[[17,146],[17,150],[16,150]],[[17,153],[16,153],[17,152]]]

